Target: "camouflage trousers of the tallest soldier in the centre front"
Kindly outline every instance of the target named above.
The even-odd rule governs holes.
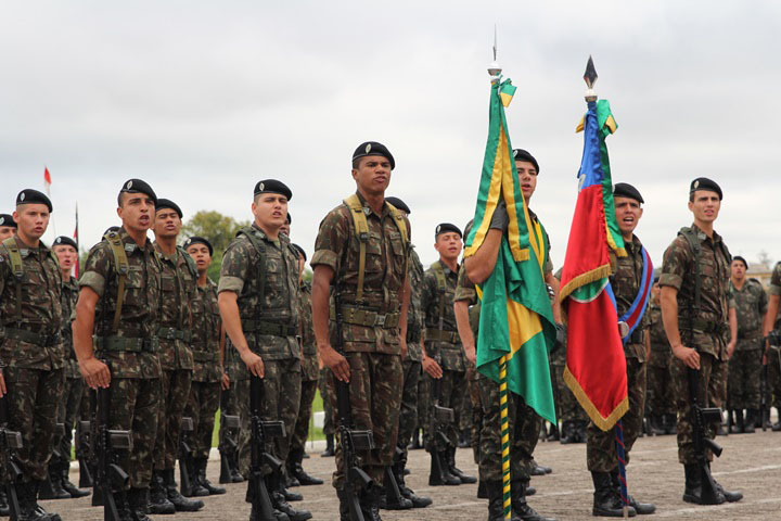
[[[383,353],[346,353],[350,366],[349,397],[353,422],[356,429],[371,430],[374,448],[358,453],[360,468],[382,486],[385,467],[393,465],[398,418],[401,407],[404,373],[401,357]],[[338,422],[336,381],[329,371],[329,399],[333,408],[334,424]],[[334,488],[344,486],[344,453],[342,442],[336,444],[336,472]]]

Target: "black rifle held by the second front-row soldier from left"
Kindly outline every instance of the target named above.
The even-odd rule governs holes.
[[[105,360],[103,363],[106,364]],[[108,370],[111,371],[111,366]],[[99,389],[94,440],[98,466],[94,488],[103,496],[103,520],[119,521],[114,491],[127,488],[130,476],[119,467],[117,450],[132,450],[132,439],[130,431],[108,429],[110,411],[111,387]]]

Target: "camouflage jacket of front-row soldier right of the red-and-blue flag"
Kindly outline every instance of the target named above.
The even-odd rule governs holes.
[[[678,290],[678,327],[683,344],[726,360],[730,307],[729,251],[718,233],[714,232],[710,239],[695,225],[691,230],[696,233],[701,250],[699,309],[694,309],[694,252],[682,233],[665,251],[660,285]]]

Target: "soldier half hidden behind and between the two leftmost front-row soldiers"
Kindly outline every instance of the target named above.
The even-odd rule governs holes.
[[[63,490],[66,497],[85,497],[89,492],[79,491],[68,480],[71,471],[71,448],[73,442],[73,429],[79,419],[81,398],[84,396],[84,380],[78,370],[78,360],[73,350],[73,332],[71,321],[74,318],[76,301],[78,300],[78,281],[71,276],[71,270],[78,262],[78,245],[69,237],[57,237],[52,244],[52,251],[60,260],[60,271],[63,277],[62,289],[62,336],[64,350],[64,372],[65,385],[62,399],[57,408],[57,422],[65,425],[64,431],[54,433],[53,447],[56,448],[60,458],[55,461],[54,454],[49,460],[49,479],[55,492]]]

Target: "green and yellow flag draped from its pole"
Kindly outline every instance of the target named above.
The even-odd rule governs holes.
[[[507,383],[537,414],[555,422],[548,351],[555,323],[543,266],[548,254],[542,225],[529,218],[510,144],[504,106],[515,87],[495,81],[490,97],[488,142],[477,194],[474,225],[464,256],[474,255],[488,233],[500,198],[510,224],[503,234],[496,267],[478,287],[482,298],[477,370],[499,382],[499,363],[507,355]]]

